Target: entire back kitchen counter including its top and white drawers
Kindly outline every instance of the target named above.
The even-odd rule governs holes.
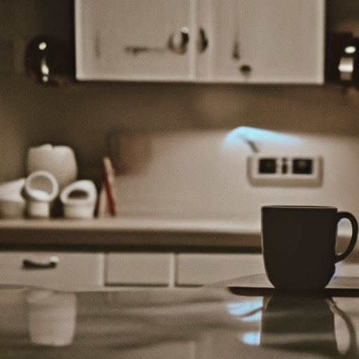
[[[342,252],[351,227],[339,227],[337,247]],[[3,284],[80,285],[87,280],[115,286],[198,286],[264,273],[261,252],[259,224],[250,221],[149,217],[0,221]],[[359,245],[341,263],[341,275],[358,273],[358,255]],[[51,266],[54,256],[57,264]],[[27,270],[24,262],[46,268]]]

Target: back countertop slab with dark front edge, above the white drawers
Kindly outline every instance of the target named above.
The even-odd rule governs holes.
[[[261,248],[260,225],[210,220],[155,218],[1,219],[1,248],[67,250],[229,251]]]

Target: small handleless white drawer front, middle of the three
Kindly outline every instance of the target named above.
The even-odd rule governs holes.
[[[109,253],[107,285],[170,285],[174,255],[170,253]]]

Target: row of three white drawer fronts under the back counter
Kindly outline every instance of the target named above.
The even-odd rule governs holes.
[[[201,286],[265,273],[261,254],[0,252],[1,285],[57,290]]]

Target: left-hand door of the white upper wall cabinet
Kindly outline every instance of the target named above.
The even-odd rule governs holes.
[[[194,0],[76,0],[75,12],[77,79],[194,79]]]

